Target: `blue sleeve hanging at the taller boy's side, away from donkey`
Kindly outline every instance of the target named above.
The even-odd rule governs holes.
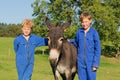
[[[93,59],[93,66],[94,67],[99,67],[99,63],[100,63],[100,56],[101,56],[101,46],[100,46],[100,38],[99,38],[99,35],[98,35],[98,32],[95,31],[95,34],[94,34],[94,43],[95,43],[95,46],[94,46],[94,59]]]

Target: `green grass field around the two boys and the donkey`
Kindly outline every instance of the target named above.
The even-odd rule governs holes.
[[[48,55],[39,54],[43,48],[36,49],[32,80],[54,80]],[[13,38],[0,38],[0,80],[17,80]],[[101,56],[97,80],[120,80],[120,59]]]

